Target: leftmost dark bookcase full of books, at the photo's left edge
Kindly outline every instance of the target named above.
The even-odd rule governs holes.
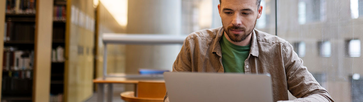
[[[28,2],[28,3],[25,3]],[[30,3],[31,2],[31,3]],[[31,102],[33,94],[35,2],[6,0],[1,101]],[[21,5],[20,5],[21,4]],[[31,4],[31,5],[23,5]]]

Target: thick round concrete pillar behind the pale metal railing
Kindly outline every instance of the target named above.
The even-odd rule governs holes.
[[[128,34],[179,35],[181,0],[129,0]],[[126,73],[138,69],[172,70],[181,45],[127,45]]]

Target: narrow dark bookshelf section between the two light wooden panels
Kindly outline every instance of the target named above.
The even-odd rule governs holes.
[[[64,101],[66,0],[54,0],[50,102]]]

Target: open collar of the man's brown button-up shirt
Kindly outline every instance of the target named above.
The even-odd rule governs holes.
[[[251,48],[250,48],[249,54],[258,57],[259,49],[258,49],[258,44],[257,44],[256,32],[257,32],[257,30],[255,30],[255,29],[252,31],[252,39],[251,39],[252,41],[251,41]],[[220,57],[222,56],[222,50],[221,50],[221,44],[219,43],[219,41],[221,40],[223,33],[224,33],[224,29],[223,29],[223,27],[220,27],[220,29],[217,32],[216,39],[213,44],[213,50],[212,50],[213,53],[216,53]]]

